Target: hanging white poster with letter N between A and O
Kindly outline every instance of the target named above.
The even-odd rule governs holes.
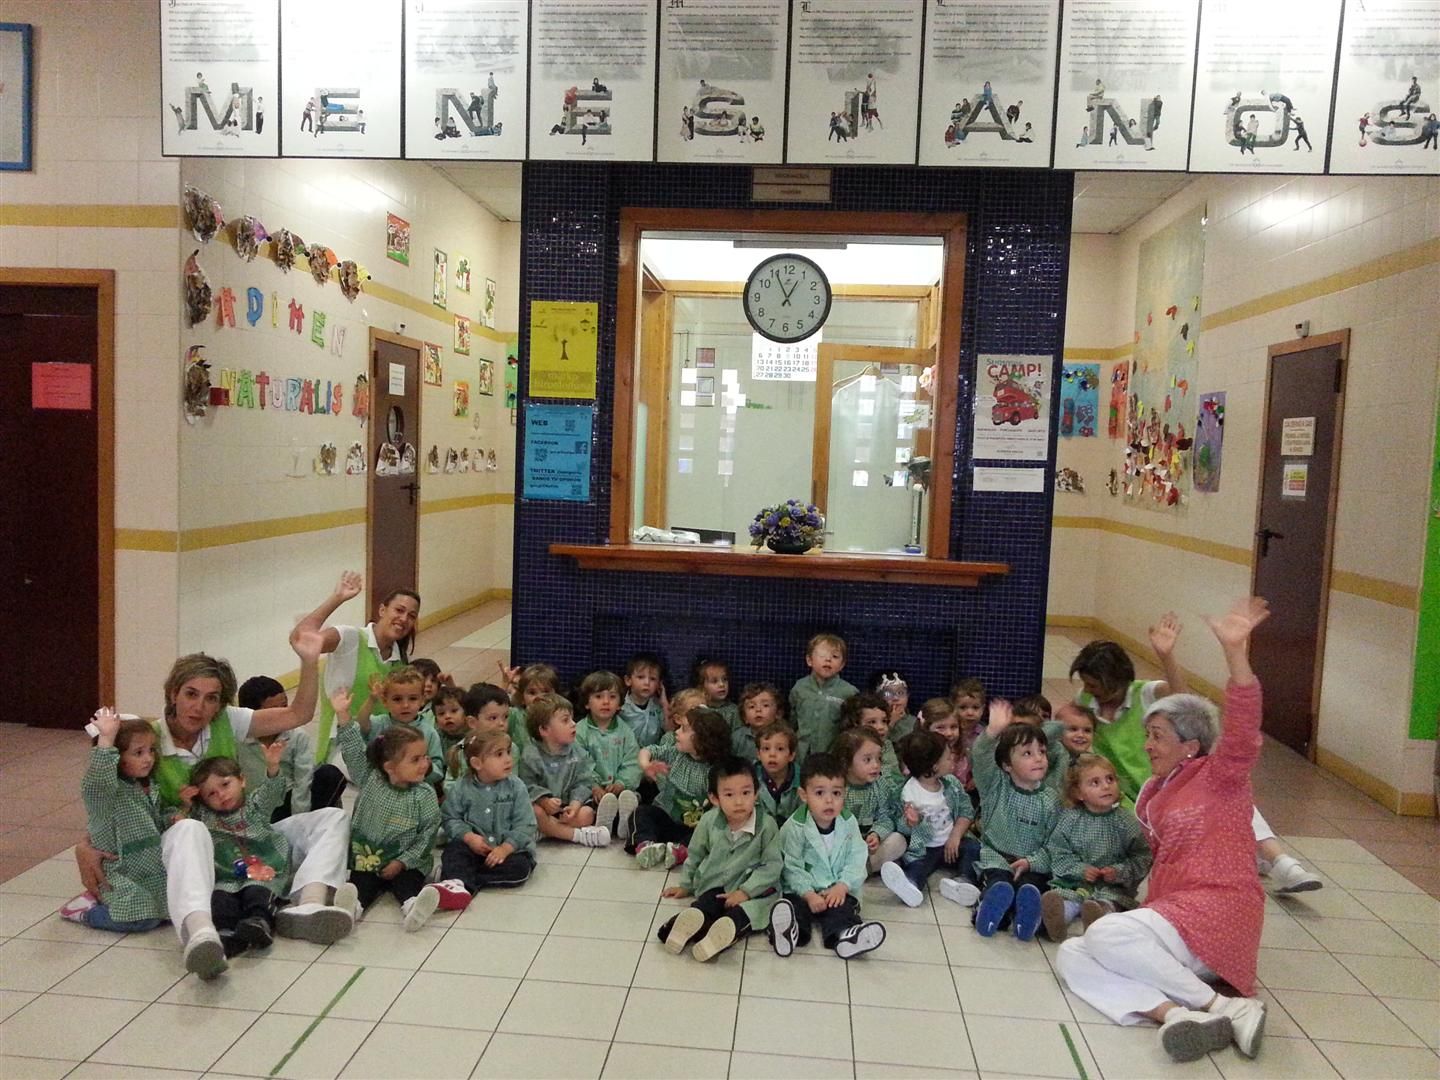
[[[1200,0],[1068,0],[1056,168],[1184,171]]]

